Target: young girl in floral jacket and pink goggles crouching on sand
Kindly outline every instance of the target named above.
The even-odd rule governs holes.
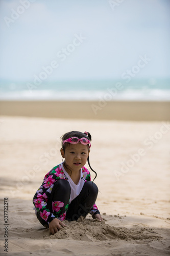
[[[93,219],[103,221],[95,205],[98,187],[91,181],[90,173],[84,167],[86,161],[90,166],[90,141],[91,135],[87,132],[72,131],[64,134],[60,152],[65,160],[45,175],[33,198],[39,222],[49,227],[52,234],[59,231],[61,226],[66,226],[63,220],[78,220],[88,213]]]

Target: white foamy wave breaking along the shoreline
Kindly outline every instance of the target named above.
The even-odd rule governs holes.
[[[1,100],[168,100],[170,101],[170,90],[124,90],[110,93],[101,91],[56,91],[56,90],[23,90],[12,92],[1,92]]]

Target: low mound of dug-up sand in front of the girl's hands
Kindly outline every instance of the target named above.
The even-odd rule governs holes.
[[[84,219],[80,217],[78,221],[64,222],[67,226],[63,227],[54,235],[45,235],[44,239],[71,239],[81,241],[111,241],[120,240],[160,240],[160,236],[152,228],[125,228],[110,226],[96,219]],[[153,234],[154,233],[154,234]]]

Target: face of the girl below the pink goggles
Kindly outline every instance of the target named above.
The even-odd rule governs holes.
[[[61,155],[65,158],[65,163],[73,171],[78,171],[85,165],[89,153],[88,145],[83,145],[80,142],[78,144],[68,144],[65,153],[61,148]]]

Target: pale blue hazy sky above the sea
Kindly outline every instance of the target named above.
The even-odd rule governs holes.
[[[169,0],[1,0],[0,79],[170,77],[169,11]]]

